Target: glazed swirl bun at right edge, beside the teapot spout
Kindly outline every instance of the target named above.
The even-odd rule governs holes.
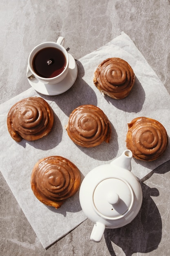
[[[137,117],[128,124],[126,146],[135,158],[153,161],[163,154],[167,145],[166,129],[158,121]]]

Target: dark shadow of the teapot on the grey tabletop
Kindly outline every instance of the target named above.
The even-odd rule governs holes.
[[[104,238],[111,256],[116,256],[112,243],[121,247],[126,256],[133,253],[147,253],[157,249],[162,236],[162,222],[159,210],[151,196],[159,191],[141,183],[143,202],[137,217],[128,225],[118,229],[105,229]]]

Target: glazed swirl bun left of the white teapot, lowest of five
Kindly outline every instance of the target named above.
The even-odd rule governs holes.
[[[31,174],[31,189],[36,198],[56,209],[77,192],[79,184],[79,169],[60,156],[39,160]]]

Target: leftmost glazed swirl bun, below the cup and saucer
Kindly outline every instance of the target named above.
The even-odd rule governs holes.
[[[49,104],[40,97],[30,97],[18,101],[9,110],[7,127],[15,141],[33,141],[48,135],[53,121],[53,110]]]

